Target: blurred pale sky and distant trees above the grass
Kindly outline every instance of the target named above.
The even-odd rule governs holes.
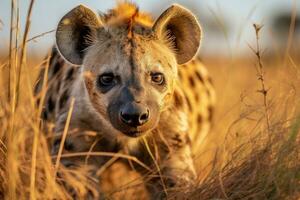
[[[20,27],[24,30],[29,0],[19,2]],[[156,18],[172,3],[179,3],[192,10],[200,20],[204,35],[201,55],[240,56],[249,53],[248,44],[255,39],[252,24],[264,25],[262,42],[270,54],[284,50],[287,45],[291,15],[295,15],[295,28],[291,49],[300,45],[300,8],[297,0],[135,0],[141,10]],[[33,6],[29,38],[54,30],[58,20],[78,4],[85,4],[95,11],[112,8],[113,0],[37,0]],[[10,32],[9,0],[0,2],[0,51],[5,54]],[[299,2],[298,2],[299,4]],[[29,53],[44,56],[54,43],[54,34],[47,34],[29,44]]]

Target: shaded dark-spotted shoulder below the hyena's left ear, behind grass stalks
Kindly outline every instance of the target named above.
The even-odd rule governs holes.
[[[72,87],[78,78],[80,68],[67,64],[55,47],[45,58],[44,63],[38,75],[34,92],[38,104],[43,99],[42,119],[55,123],[57,115],[69,108],[68,102],[72,95]],[[41,98],[43,93],[45,96]]]

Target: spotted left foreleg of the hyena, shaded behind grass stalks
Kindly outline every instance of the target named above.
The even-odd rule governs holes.
[[[60,129],[57,128],[57,130]],[[70,127],[65,141],[62,141],[63,132],[58,132],[56,135],[51,145],[52,155],[56,157],[61,146],[63,147],[57,174],[59,182],[73,199],[105,199],[97,171],[109,160],[109,157],[89,153],[103,152],[104,150],[99,147],[108,147],[109,143],[96,132],[82,131],[74,127]],[[74,156],[74,154],[77,155]],[[74,181],[70,181],[70,178]],[[76,182],[82,185],[75,184]],[[77,188],[78,186],[84,186],[84,188]]]

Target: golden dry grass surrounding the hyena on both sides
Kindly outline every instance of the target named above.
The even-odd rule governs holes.
[[[49,154],[47,141],[51,134],[41,130],[41,105],[36,109],[32,92],[41,61],[26,60],[31,8],[22,38],[17,1],[12,0],[12,11],[9,58],[0,62],[0,199],[84,199],[88,193],[97,196],[98,180],[89,176],[88,166],[66,169],[58,161],[60,156],[68,155]],[[299,64],[286,52],[282,58],[263,60],[259,28],[255,29],[253,57],[204,59],[218,94],[215,124],[195,156],[199,183],[189,191],[178,189],[178,199],[300,198]],[[139,162],[123,154],[86,152],[80,156],[117,156]],[[121,170],[118,165],[111,168]],[[109,170],[104,176],[119,182],[120,177]],[[139,184],[137,179],[120,188],[103,188],[110,191],[106,198],[117,194],[124,198],[124,188]],[[70,190],[73,192],[68,193]]]

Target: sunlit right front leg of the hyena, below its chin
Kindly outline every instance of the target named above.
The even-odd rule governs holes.
[[[197,175],[192,159],[191,141],[186,127],[183,126],[185,122],[182,120],[185,118],[181,114],[178,112],[168,115],[168,121],[162,123],[153,133],[155,144],[152,145],[152,152],[155,151],[155,146],[158,147],[158,158],[155,162],[159,171],[146,183],[152,199],[172,196],[174,191],[187,191],[195,184]]]

